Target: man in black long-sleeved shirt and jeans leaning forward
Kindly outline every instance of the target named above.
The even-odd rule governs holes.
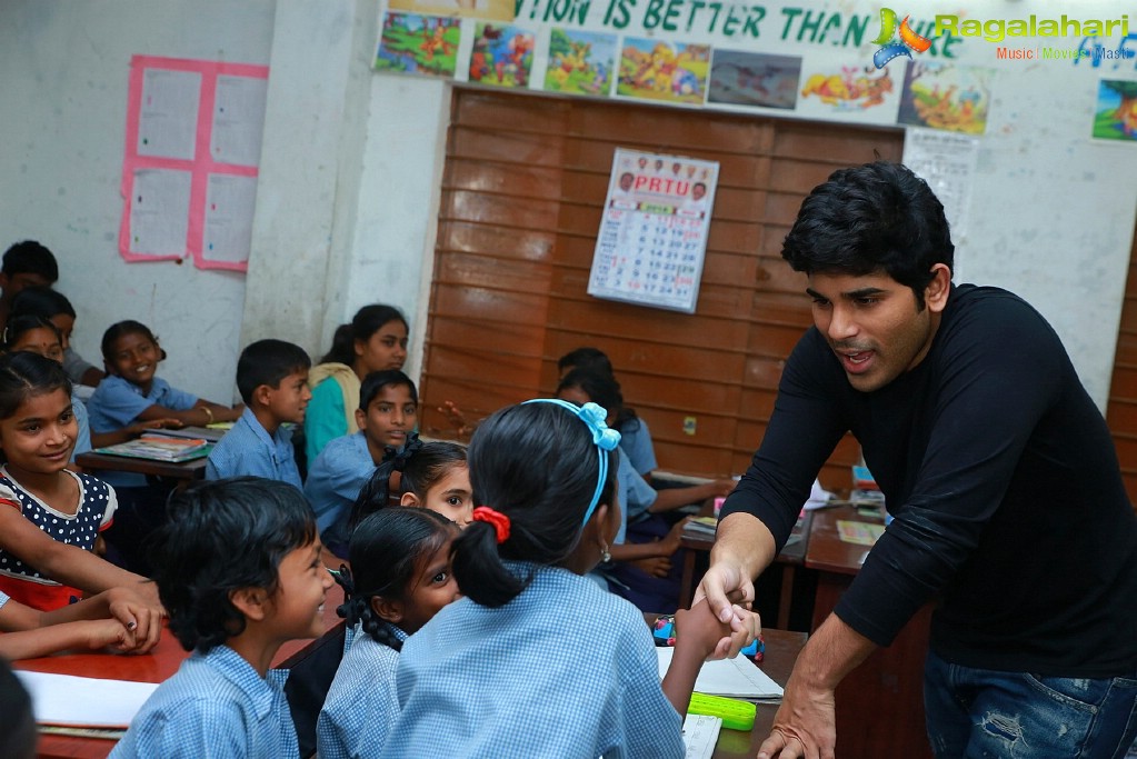
[[[953,252],[928,185],[885,162],[836,172],[786,237],[815,326],[700,593],[723,619],[727,592],[753,598],[848,431],[894,520],[803,650],[760,758],[832,757],[837,684],[932,600],[939,757],[1111,757],[1137,733],[1137,517],[1109,429],[1045,319],[953,285]]]

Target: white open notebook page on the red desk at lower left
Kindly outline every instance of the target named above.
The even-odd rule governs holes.
[[[16,670],[32,695],[35,722],[43,725],[128,727],[157,683],[96,679]]]

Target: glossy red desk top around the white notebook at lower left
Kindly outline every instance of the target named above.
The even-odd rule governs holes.
[[[335,637],[341,623],[335,607],[343,602],[343,591],[333,585],[324,602],[324,625],[327,631],[315,641],[289,641],[281,647],[273,659],[274,667],[292,668],[319,650],[327,640]],[[168,629],[153,651],[146,656],[118,656],[114,653],[66,653],[40,659],[16,661],[16,669],[45,672],[59,675],[78,675],[103,679],[125,679],[135,683],[160,683],[177,672],[189,656]],[[114,740],[99,737],[74,737],[69,735],[41,735],[36,757],[41,759],[105,759],[115,748]]]

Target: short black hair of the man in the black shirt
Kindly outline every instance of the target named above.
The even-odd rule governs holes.
[[[877,161],[833,172],[802,202],[782,243],[795,272],[864,276],[883,272],[915,293],[931,267],[952,268],[955,245],[944,206],[906,166]]]

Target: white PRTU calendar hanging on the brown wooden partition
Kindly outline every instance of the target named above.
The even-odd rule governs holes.
[[[588,294],[694,314],[716,161],[617,148]]]

